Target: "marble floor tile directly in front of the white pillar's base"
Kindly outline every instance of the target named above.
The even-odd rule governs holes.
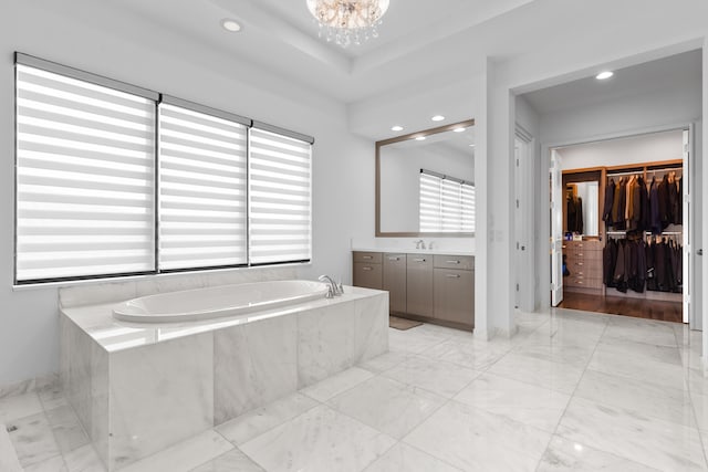
[[[499,346],[492,343],[448,339],[424,350],[421,355],[470,369],[483,370],[501,359],[511,347],[510,345]]]

